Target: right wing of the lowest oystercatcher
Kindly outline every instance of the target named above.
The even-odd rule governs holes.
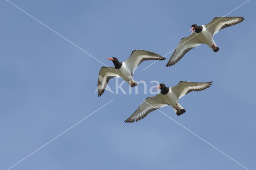
[[[180,81],[178,85],[171,87],[171,90],[179,100],[180,98],[182,98],[184,95],[188,94],[191,91],[202,91],[210,87],[210,85],[212,85],[212,81],[205,82],[205,83]]]

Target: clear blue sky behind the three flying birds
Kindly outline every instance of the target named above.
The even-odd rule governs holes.
[[[165,55],[192,24],[207,24],[245,0],[56,1],[12,0],[108,66],[134,49]],[[136,123],[124,121],[146,97],[105,91],[94,94],[104,66],[9,2],[0,2],[0,169],[8,169],[109,101],[111,103],[35,152],[13,170],[242,170],[159,111]],[[186,113],[163,113],[248,169],[256,169],[255,6],[250,0],[228,16],[244,22],[214,36],[220,47],[189,51],[176,65],[144,61],[136,81],[213,81],[180,99]],[[170,58],[170,54],[166,56]],[[118,79],[122,81],[122,79]],[[109,87],[115,89],[115,79]],[[128,92],[128,83],[123,86]]]

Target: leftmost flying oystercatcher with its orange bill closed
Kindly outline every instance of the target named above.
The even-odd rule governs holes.
[[[108,81],[114,77],[121,77],[130,87],[135,87],[138,84],[132,79],[134,71],[137,67],[145,60],[165,60],[157,53],[153,53],[146,50],[134,50],[132,51],[130,57],[124,61],[120,62],[116,57],[107,58],[113,61],[114,67],[101,67],[100,73],[98,75],[98,97],[100,97],[108,84]]]

